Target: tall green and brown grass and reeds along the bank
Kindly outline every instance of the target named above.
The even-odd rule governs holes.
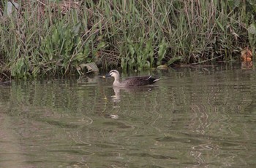
[[[254,0],[1,0],[0,73],[10,78],[236,60],[255,50]]]

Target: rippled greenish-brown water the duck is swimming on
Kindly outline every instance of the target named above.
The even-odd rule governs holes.
[[[0,86],[0,167],[256,167],[255,71],[154,73]]]

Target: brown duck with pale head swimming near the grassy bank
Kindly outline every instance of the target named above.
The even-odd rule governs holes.
[[[159,78],[153,78],[152,76],[134,76],[120,81],[120,74],[116,70],[111,70],[103,78],[113,77],[113,87],[140,87],[147,84],[154,84],[159,81]]]

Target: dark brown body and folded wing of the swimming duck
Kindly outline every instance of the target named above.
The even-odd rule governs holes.
[[[138,77],[130,77],[123,81],[125,86],[127,87],[139,87],[146,84],[154,84],[154,82],[159,79],[152,78],[152,76],[138,76]]]

